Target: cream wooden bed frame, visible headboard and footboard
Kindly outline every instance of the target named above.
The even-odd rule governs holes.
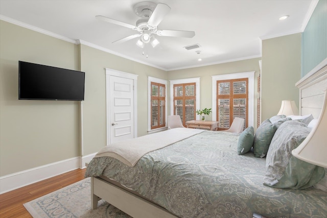
[[[327,89],[327,59],[303,77],[296,86],[300,91],[300,114],[313,114],[318,118],[324,90]],[[126,189],[118,187],[99,177],[91,177],[91,205],[96,209],[98,201],[104,199],[114,207],[124,211],[130,216],[144,217],[177,217],[165,208],[162,208]],[[258,216],[255,216],[258,217]],[[259,215],[259,217],[261,217]],[[263,217],[263,216],[262,216]]]

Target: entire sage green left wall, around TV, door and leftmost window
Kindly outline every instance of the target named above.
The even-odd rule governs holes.
[[[105,67],[139,75],[137,129],[147,134],[148,76],[166,71],[3,20],[0,47],[0,176],[81,155],[80,102],[18,100],[18,60],[85,71],[83,155],[106,145]]]

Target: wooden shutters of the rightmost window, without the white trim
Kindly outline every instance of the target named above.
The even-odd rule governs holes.
[[[248,118],[248,79],[217,81],[218,130],[229,129],[235,117]]]

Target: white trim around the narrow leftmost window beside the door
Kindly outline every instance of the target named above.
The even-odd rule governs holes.
[[[151,129],[151,82],[165,85],[165,127]],[[148,133],[159,132],[167,129],[167,80],[162,80],[155,77],[148,77]]]

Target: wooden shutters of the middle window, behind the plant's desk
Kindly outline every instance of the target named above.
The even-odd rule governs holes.
[[[195,83],[174,85],[174,115],[179,115],[183,126],[195,119]]]

